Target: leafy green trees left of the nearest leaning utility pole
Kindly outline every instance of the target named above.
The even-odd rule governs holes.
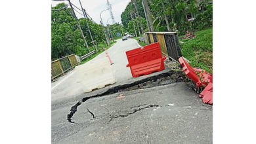
[[[86,52],[83,39],[72,16],[72,11],[66,4],[60,3],[52,9],[61,9],[52,11],[51,22],[51,56],[52,60],[62,58],[63,56],[76,53],[84,54]],[[65,9],[62,9],[65,8]]]

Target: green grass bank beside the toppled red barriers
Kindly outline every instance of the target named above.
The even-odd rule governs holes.
[[[184,37],[182,35],[181,37]],[[182,56],[190,61],[192,67],[213,71],[213,27],[196,32],[194,39],[181,39]]]

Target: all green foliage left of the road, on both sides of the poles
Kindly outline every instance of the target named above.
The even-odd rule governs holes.
[[[87,48],[81,37],[81,33],[75,22],[75,18],[72,14],[72,10],[66,7],[65,3],[60,3],[56,7],[51,9],[61,9],[61,10],[52,10],[51,16],[51,57],[52,60],[62,58],[69,54],[77,54],[82,56],[87,54]],[[64,8],[64,9],[62,9]],[[87,20],[93,39],[98,43],[104,41],[104,34],[102,26]],[[91,46],[91,37],[89,31],[85,24],[85,19],[80,18],[79,23],[87,44]]]

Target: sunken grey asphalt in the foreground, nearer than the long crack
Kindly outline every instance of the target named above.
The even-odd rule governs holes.
[[[212,106],[184,82],[52,107],[52,143],[212,143]]]

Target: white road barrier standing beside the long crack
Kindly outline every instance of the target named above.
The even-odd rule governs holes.
[[[104,88],[106,85],[116,82],[114,71],[106,57],[78,65],[75,69],[83,92],[91,92],[96,88]]]

